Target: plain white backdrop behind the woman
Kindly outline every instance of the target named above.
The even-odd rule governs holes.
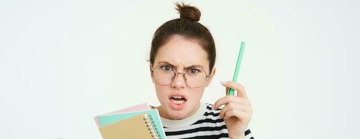
[[[239,83],[255,138],[360,138],[359,1],[191,1],[215,38],[223,97]],[[0,1],[0,138],[101,138],[95,115],[158,105],[151,38],[173,1]]]

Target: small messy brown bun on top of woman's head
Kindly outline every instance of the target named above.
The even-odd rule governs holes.
[[[194,6],[189,6],[184,3],[175,3],[177,11],[180,13],[180,18],[182,19],[192,19],[196,22],[200,20],[200,10]]]

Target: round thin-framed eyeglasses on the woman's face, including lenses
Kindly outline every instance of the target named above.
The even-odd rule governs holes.
[[[170,85],[177,74],[182,74],[190,88],[201,87],[210,76],[200,67],[189,67],[185,73],[181,73],[176,72],[171,65],[167,64],[158,65],[150,71],[153,73],[153,79],[160,85]]]

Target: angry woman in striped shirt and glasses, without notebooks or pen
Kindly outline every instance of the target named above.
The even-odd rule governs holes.
[[[160,101],[157,108],[167,138],[253,138],[247,129],[253,109],[242,85],[222,82],[237,96],[215,104],[200,99],[216,73],[216,49],[200,10],[176,3],[180,18],[160,26],[150,51],[151,79]],[[223,106],[223,108],[219,108]]]

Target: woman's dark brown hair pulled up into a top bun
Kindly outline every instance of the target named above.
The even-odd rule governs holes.
[[[195,40],[202,46],[202,49],[207,51],[209,70],[211,72],[216,59],[215,42],[207,27],[198,22],[201,16],[200,10],[184,3],[175,3],[175,5],[180,13],[180,18],[165,22],[153,34],[150,63],[154,64],[158,49],[162,45],[166,44],[174,35],[179,35],[189,40]]]

